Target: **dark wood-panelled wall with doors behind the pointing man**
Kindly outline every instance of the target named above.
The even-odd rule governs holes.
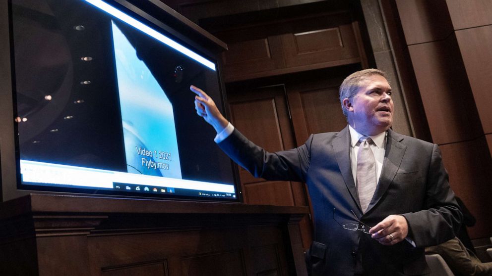
[[[471,237],[492,235],[491,1],[162,1],[228,44],[231,119],[269,150],[340,130],[341,80],[387,72],[394,130],[439,144],[452,188],[477,218]],[[246,203],[308,204],[303,184],[241,176]]]

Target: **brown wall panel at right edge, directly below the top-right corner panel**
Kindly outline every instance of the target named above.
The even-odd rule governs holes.
[[[477,1],[475,1],[477,2]],[[492,1],[489,2],[492,8]],[[492,20],[492,13],[489,13]],[[492,26],[456,31],[484,132],[492,133]]]

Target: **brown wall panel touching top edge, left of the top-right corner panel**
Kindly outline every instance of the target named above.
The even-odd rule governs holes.
[[[445,0],[396,0],[407,45],[443,40],[453,31]]]

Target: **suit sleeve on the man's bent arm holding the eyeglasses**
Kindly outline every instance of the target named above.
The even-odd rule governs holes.
[[[417,247],[436,245],[453,238],[462,221],[462,213],[449,186],[448,174],[436,144],[432,148],[426,185],[426,209],[402,214]]]

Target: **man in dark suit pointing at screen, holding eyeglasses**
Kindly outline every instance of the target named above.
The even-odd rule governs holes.
[[[298,148],[266,152],[196,87],[197,114],[218,145],[255,177],[306,182],[314,211],[312,275],[426,275],[424,248],[454,237],[461,212],[436,144],[395,133],[391,87],[376,69],[340,86],[349,125]]]

